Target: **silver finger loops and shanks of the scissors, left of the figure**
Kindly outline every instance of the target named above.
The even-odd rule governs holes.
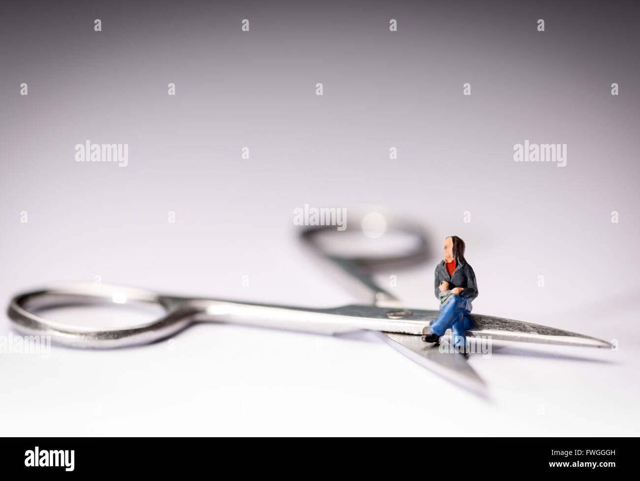
[[[41,288],[13,297],[8,316],[20,331],[31,335],[51,336],[57,343],[74,347],[109,348],[154,342],[167,338],[198,321],[239,322],[257,326],[295,329],[314,333],[340,333],[356,329],[371,329],[392,333],[419,335],[437,311],[390,310],[397,303],[396,297],[380,288],[371,277],[378,265],[392,262],[410,262],[426,256],[426,239],[415,226],[397,223],[385,217],[390,230],[400,229],[415,235],[412,249],[394,256],[348,256],[324,251],[317,243],[317,234],[326,226],[313,226],[301,232],[302,238],[312,248],[358,280],[367,288],[369,299],[376,306],[344,306],[330,309],[312,309],[271,304],[239,303],[216,299],[164,296],[151,290],[117,285],[70,283]],[[353,221],[352,221],[353,225]],[[356,226],[358,226],[356,217]],[[335,229],[335,227],[334,227]],[[353,229],[353,228],[352,228]],[[70,305],[96,304],[158,304],[165,315],[147,324],[120,329],[79,327],[45,319],[37,311],[45,308]]]

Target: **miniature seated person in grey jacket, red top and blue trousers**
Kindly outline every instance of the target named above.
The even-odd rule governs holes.
[[[435,295],[440,300],[440,315],[424,328],[422,340],[439,342],[451,327],[453,345],[461,351],[467,347],[465,329],[474,327],[469,313],[471,301],[478,295],[476,274],[465,260],[465,242],[460,237],[452,235],[445,239],[442,257],[442,262],[436,265],[434,280]]]

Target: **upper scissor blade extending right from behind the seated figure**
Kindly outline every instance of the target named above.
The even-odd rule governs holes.
[[[537,342],[543,344],[611,347],[611,343],[582,334],[563,331],[556,327],[541,326],[522,320],[504,319],[472,314],[476,327],[469,329],[468,336],[491,338],[492,340]]]

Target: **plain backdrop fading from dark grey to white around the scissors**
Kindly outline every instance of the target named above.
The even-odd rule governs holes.
[[[436,308],[433,265],[455,234],[479,282],[474,311],[620,343],[472,356],[489,401],[370,333],[197,326],[173,350],[0,354],[0,406],[15,414],[3,433],[425,435],[417,420],[435,409],[441,435],[460,417],[476,435],[637,435],[636,19],[604,2],[3,6],[1,299],[99,275],[349,303],[300,248],[292,211],[376,203],[433,241],[427,265],[381,274],[397,274],[407,304]],[[128,143],[129,166],[75,162],[86,139]],[[525,139],[566,143],[567,166],[513,162]]]

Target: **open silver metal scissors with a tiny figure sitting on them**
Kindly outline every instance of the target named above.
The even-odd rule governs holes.
[[[352,217],[352,212],[349,212]],[[257,304],[200,297],[179,297],[159,294],[120,285],[67,283],[24,292],[13,297],[8,316],[13,325],[28,335],[51,336],[52,342],[70,347],[110,349],[147,344],[169,338],[196,322],[231,322],[253,326],[293,329],[309,333],[339,334],[366,329],[383,333],[386,340],[408,358],[417,361],[450,381],[482,393],[484,381],[468,365],[467,357],[443,352],[436,343],[422,340],[429,333],[429,323],[438,317],[435,310],[405,308],[399,299],[374,281],[380,269],[415,265],[429,257],[429,242],[419,225],[388,213],[374,213],[383,226],[383,235],[368,241],[378,242],[385,237],[400,236],[411,242],[392,253],[364,255],[362,250],[345,253],[331,248],[330,241],[340,236],[364,236],[364,221],[371,218],[356,215],[346,230],[335,226],[301,226],[300,238],[327,264],[337,267],[352,283],[364,292],[367,300],[336,308],[314,309],[276,304]],[[353,228],[355,225],[355,228]],[[147,324],[124,328],[83,327],[47,320],[38,311],[60,306],[97,306],[104,304],[156,304],[164,315]],[[473,313],[475,327],[466,331],[470,340],[532,342],[584,347],[611,347],[611,343],[555,327],[541,326],[520,320],[478,315]],[[451,329],[444,338],[451,336]],[[444,341],[446,342],[446,341]]]

